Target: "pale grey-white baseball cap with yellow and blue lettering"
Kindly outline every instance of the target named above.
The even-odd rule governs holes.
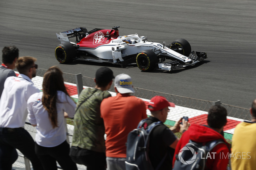
[[[132,78],[127,74],[119,74],[115,78],[115,87],[121,94],[134,93],[132,87]]]

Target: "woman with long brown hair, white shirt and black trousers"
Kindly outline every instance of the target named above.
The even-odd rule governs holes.
[[[57,170],[56,161],[64,170],[77,170],[69,157],[66,141],[66,119],[74,117],[76,104],[69,97],[62,72],[57,66],[44,74],[43,92],[28,99],[28,120],[36,127],[36,155],[44,170]]]

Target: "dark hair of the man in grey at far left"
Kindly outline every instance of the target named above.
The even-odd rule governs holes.
[[[15,58],[19,58],[19,49],[15,46],[4,47],[2,53],[2,62],[5,64],[12,64]]]

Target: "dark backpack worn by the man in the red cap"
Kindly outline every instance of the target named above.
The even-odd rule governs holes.
[[[150,132],[156,126],[162,124],[162,122],[153,122],[144,129],[143,125],[146,120],[148,119],[140,121],[137,129],[132,130],[128,134],[126,143],[126,170],[154,170],[148,157],[149,135]],[[167,154],[155,170],[162,165],[166,156]]]

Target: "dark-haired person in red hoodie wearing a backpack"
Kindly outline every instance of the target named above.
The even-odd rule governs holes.
[[[172,165],[174,166],[176,155],[179,154],[180,150],[188,143],[189,140],[198,143],[207,143],[215,139],[222,139],[225,143],[220,143],[212,149],[210,153],[211,157],[206,160],[205,169],[226,170],[228,166],[229,144],[221,134],[223,133],[223,127],[226,123],[227,110],[220,105],[212,106],[208,112],[208,126],[192,124],[188,130],[182,134],[175,148]]]

